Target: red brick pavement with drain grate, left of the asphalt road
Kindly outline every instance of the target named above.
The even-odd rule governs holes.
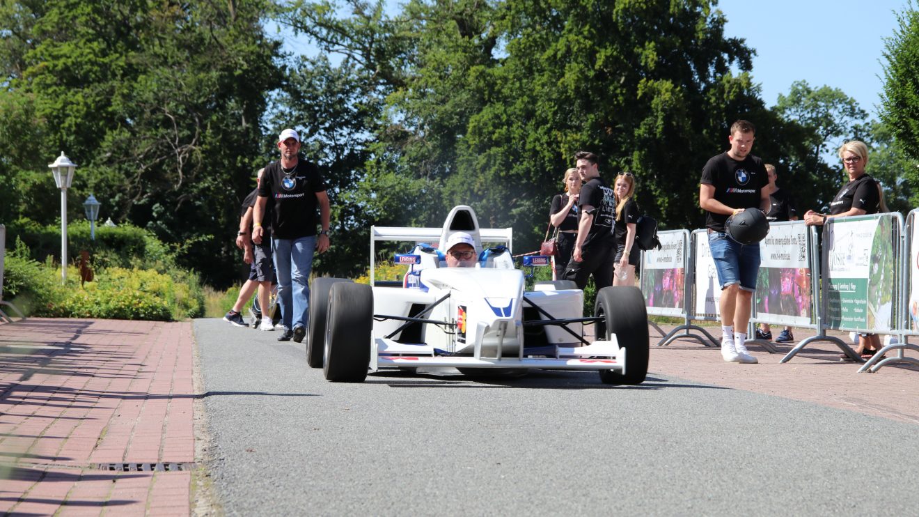
[[[191,324],[0,325],[0,514],[188,515]]]

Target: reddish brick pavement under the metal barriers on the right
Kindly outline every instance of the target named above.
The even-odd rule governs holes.
[[[673,326],[664,327],[668,332]],[[775,328],[775,327],[774,327]],[[708,327],[720,339],[720,327]],[[663,335],[653,327],[649,375],[672,375],[689,381],[804,400],[831,408],[919,424],[919,367],[907,363],[885,365],[878,373],[857,373],[861,363],[840,362],[840,350],[828,341],[809,343],[789,362],[780,363],[800,341],[773,343],[778,353],[750,346],[758,364],[723,362],[720,348],[706,348],[695,339],[677,339],[658,347]],[[695,332],[694,332],[695,333]],[[795,329],[796,339],[815,331]],[[848,341],[848,333],[829,332]],[[896,354],[888,354],[893,357]],[[906,357],[916,358],[907,350]],[[919,359],[919,358],[917,358]]]

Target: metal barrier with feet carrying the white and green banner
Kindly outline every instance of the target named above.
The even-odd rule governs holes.
[[[900,334],[902,304],[902,215],[878,213],[828,219],[823,225],[821,298],[817,335],[804,339],[782,358],[788,362],[815,341],[830,341],[856,362],[855,350],[826,330]]]

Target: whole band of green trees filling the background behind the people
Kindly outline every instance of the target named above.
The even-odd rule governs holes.
[[[911,13],[889,75],[915,63]],[[698,227],[701,168],[740,118],[804,208],[838,189],[825,156],[846,138],[875,145],[889,201],[911,195],[894,172],[908,124],[868,127],[842,91],[805,82],[766,109],[754,51],[725,21],[714,0],[3,2],[0,221],[54,222],[47,164],[63,150],[80,166],[72,200],[94,193],[103,218],[152,230],[226,285],[239,202],[285,127],[329,187],[320,274],[362,270],[370,225],[437,225],[459,203],[513,226],[517,252],[535,249],[581,149],[606,178],[635,173],[641,209],[664,227]],[[283,54],[269,22],[317,52]]]

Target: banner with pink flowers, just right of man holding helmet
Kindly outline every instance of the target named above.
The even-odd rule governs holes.
[[[804,224],[772,224],[760,242],[756,317],[771,324],[803,327],[811,316],[811,270]]]

